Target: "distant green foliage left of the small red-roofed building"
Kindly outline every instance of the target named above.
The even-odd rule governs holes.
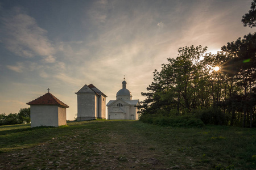
[[[30,123],[30,108],[21,108],[19,113],[0,114],[0,125],[15,125]]]

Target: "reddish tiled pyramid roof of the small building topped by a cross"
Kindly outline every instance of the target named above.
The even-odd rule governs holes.
[[[50,94],[49,92],[43,96],[38,97],[38,99],[32,100],[27,103],[28,105],[59,105],[63,108],[69,108],[69,106],[55,96]]]

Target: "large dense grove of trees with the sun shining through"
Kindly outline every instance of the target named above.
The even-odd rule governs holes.
[[[142,92],[141,119],[191,115],[205,124],[256,123],[256,33],[228,42],[217,54],[206,51],[185,46],[154,71],[148,92]]]

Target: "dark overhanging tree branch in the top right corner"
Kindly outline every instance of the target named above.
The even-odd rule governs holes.
[[[251,9],[249,12],[243,15],[242,23],[245,27],[247,25],[251,28],[256,27],[256,0],[251,2]]]

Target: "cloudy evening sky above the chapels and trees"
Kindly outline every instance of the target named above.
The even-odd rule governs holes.
[[[255,28],[243,27],[252,0],[0,0],[0,113],[18,113],[51,94],[77,113],[93,84],[115,100],[123,75],[133,99],[184,46],[216,53]]]

